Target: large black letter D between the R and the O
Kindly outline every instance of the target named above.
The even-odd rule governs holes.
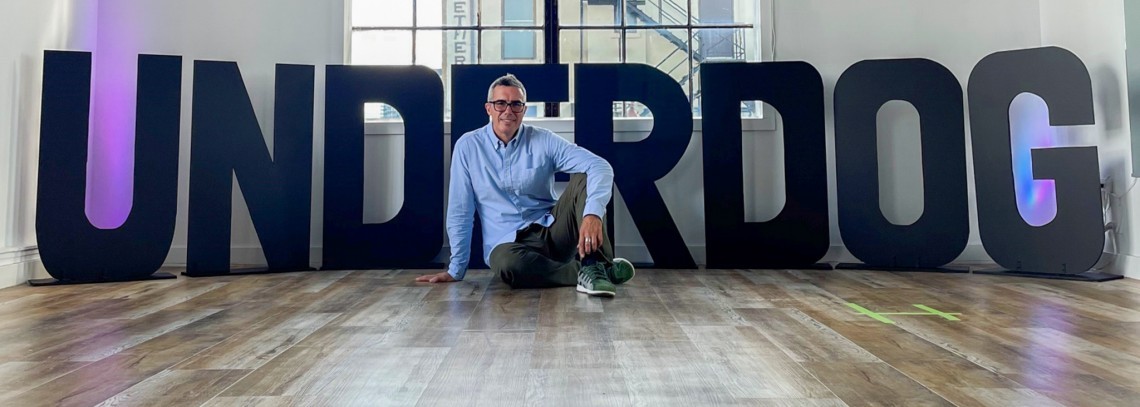
[[[708,267],[811,267],[831,244],[819,71],[803,62],[702,64],[701,89]],[[742,100],[766,101],[783,117],[788,201],[766,222],[744,221]]]

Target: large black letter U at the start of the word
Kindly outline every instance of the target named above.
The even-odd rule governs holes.
[[[91,54],[43,52],[35,233],[43,267],[62,283],[146,278],[166,260],[178,198],[182,59],[141,55],[135,119],[135,198],[117,229],[84,213]]]

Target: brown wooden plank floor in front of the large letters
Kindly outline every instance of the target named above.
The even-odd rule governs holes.
[[[1137,280],[421,272],[0,290],[0,406],[1140,405]]]

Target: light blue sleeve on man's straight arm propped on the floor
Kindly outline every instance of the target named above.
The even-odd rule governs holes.
[[[471,233],[475,220],[475,192],[471,186],[467,169],[466,144],[461,139],[451,154],[451,180],[447,194],[447,237],[451,246],[451,258],[447,272],[456,280],[467,274],[471,261]]]

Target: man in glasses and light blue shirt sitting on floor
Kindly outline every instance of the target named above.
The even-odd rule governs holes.
[[[471,258],[478,212],[484,261],[513,288],[577,285],[589,295],[614,296],[614,284],[634,276],[626,259],[613,258],[605,236],[605,205],[613,168],[554,132],[522,124],[527,89],[514,75],[491,82],[484,104],[490,123],[467,132],[451,154],[447,271],[417,282],[463,279]],[[555,202],[554,173],[571,173]]]

